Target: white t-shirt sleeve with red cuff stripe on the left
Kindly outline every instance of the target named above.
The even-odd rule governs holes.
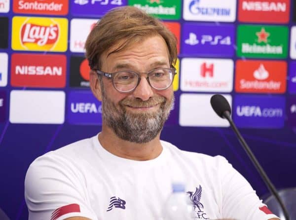
[[[25,178],[25,200],[29,220],[97,220],[87,199],[83,176],[73,162],[52,152],[30,165]]]

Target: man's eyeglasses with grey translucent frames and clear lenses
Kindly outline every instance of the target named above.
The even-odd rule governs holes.
[[[95,71],[97,74],[112,79],[114,88],[121,93],[132,92],[141,81],[141,74],[132,71],[120,71],[115,73],[105,73],[99,70]],[[158,68],[144,74],[147,75],[146,79],[152,88],[164,90],[172,85],[177,71],[175,68]]]

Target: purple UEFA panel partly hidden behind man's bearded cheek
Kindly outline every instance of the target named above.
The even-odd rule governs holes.
[[[102,105],[91,91],[70,91],[67,102],[70,124],[102,124]]]

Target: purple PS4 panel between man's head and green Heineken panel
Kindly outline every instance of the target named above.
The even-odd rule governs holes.
[[[232,57],[234,33],[234,25],[185,23],[182,53],[188,56]]]

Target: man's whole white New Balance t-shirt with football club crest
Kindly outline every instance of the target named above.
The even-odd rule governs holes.
[[[135,161],[95,136],[38,157],[25,180],[29,220],[159,220],[172,183],[185,183],[188,196],[201,191],[195,220],[276,218],[224,157],[161,145],[157,158]]]

